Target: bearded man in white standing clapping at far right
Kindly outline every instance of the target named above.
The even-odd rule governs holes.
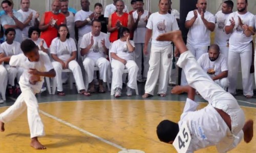
[[[252,62],[252,30],[254,15],[247,12],[247,0],[238,0],[238,11],[231,13],[225,26],[229,38],[228,50],[228,80],[230,82],[228,92],[236,94],[237,75],[241,61],[243,94],[247,98],[253,96],[253,62]],[[251,73],[252,72],[252,73]]]

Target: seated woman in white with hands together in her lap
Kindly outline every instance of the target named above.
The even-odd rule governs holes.
[[[75,41],[69,38],[69,30],[66,24],[60,24],[58,28],[58,37],[52,40],[50,52],[53,59],[52,65],[56,72],[57,94],[64,96],[62,89],[61,71],[70,69],[73,72],[75,82],[81,94],[89,96],[84,87],[81,68],[75,61],[77,50]]]

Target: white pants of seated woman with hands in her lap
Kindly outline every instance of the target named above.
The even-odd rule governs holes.
[[[57,91],[63,91],[62,80],[61,80],[62,65],[57,61],[53,61],[52,65],[56,72]],[[68,68],[73,72],[77,89],[78,90],[86,89],[83,83],[81,68],[78,65],[78,63],[75,60],[70,61]]]

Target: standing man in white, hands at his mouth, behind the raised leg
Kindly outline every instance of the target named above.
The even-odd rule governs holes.
[[[207,53],[210,45],[210,32],[215,29],[214,15],[206,11],[207,1],[198,0],[197,10],[187,14],[185,27],[189,29],[187,34],[187,48],[199,59],[201,55]],[[184,72],[181,74],[181,85],[187,85]]]

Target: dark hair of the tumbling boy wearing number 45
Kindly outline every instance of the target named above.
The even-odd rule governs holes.
[[[173,121],[163,120],[157,125],[157,136],[162,142],[174,141],[178,133],[179,125]]]

